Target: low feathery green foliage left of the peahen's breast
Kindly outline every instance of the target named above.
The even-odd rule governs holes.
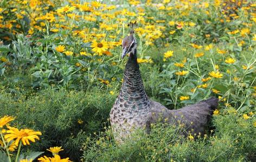
[[[41,140],[31,149],[62,146],[71,157],[79,158],[82,141],[105,126],[114,98],[97,89],[88,92],[46,89],[16,98],[1,93],[0,116],[15,116],[14,126],[42,132]],[[79,119],[83,123],[79,124]]]

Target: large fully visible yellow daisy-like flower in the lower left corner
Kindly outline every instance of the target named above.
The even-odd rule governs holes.
[[[15,127],[10,126],[8,126],[8,129],[9,130],[7,130],[7,134],[4,135],[4,138],[7,139],[8,143],[15,139],[15,145],[18,145],[20,140],[22,141],[23,145],[30,145],[29,140],[34,143],[35,139],[39,140],[37,135],[42,135],[42,133],[39,131],[29,129],[18,130]]]

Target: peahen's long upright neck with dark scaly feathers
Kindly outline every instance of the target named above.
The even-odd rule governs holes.
[[[139,102],[141,100],[148,102],[149,100],[139,72],[136,49],[135,53],[130,53],[129,60],[126,63],[120,96],[125,100],[131,100],[131,102]]]

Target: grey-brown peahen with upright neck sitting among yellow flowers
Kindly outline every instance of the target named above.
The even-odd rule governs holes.
[[[188,131],[203,133],[207,120],[217,107],[217,98],[209,98],[199,103],[182,107],[178,110],[169,110],[160,103],[151,100],[144,90],[142,77],[137,62],[137,42],[133,36],[134,30],[122,42],[124,58],[130,53],[124,71],[124,82],[119,96],[110,112],[110,122],[113,135],[118,143],[122,143],[135,129],[150,129],[151,123],[165,119],[169,124],[183,125],[185,136]]]

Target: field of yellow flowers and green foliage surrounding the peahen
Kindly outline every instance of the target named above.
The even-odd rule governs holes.
[[[135,21],[150,98],[169,109],[220,99],[202,136],[157,124],[114,143]],[[256,161],[255,105],[253,0],[0,2],[0,161]]]

